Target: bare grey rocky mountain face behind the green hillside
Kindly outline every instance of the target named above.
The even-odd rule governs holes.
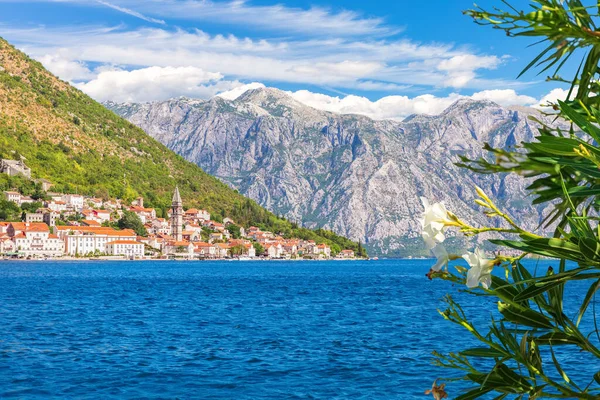
[[[485,142],[531,141],[537,127],[528,117],[544,120],[534,109],[459,100],[437,116],[374,121],[319,111],[269,88],[234,101],[106,106],[266,208],[362,240],[371,254],[423,253],[421,196],[489,225],[473,202],[474,185],[522,226],[537,230],[542,220],[522,177],[477,175],[454,164],[459,155],[488,156]]]

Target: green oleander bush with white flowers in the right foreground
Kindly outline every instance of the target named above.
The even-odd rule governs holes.
[[[504,4],[509,7],[507,11],[479,8],[466,13],[475,22],[509,36],[533,37],[545,43],[544,50],[523,72],[533,68],[540,73],[548,71],[551,81],[570,85],[567,99],[551,106],[571,128],[563,131],[537,121],[541,128],[534,141],[510,151],[486,144],[492,159],[463,158],[462,166],[478,173],[517,173],[532,178],[528,190],[535,204],[545,204],[551,210],[544,224],[554,232],[543,236],[526,231],[479,188],[476,203],[494,220],[490,226],[472,226],[439,204],[426,205],[423,234],[438,256],[428,275],[466,283],[470,294],[494,298],[500,314],[487,327],[479,326],[448,296],[442,316],[465,328],[478,344],[456,353],[435,353],[436,362],[462,371],[463,379],[472,384],[459,399],[598,399],[600,336],[594,307],[600,289],[600,128],[596,125],[600,121],[600,5],[584,6],[579,0],[533,0],[532,10],[523,12],[508,2]],[[573,69],[577,74],[565,79],[559,73],[573,56],[581,61],[579,68],[576,64]],[[448,260],[461,257],[443,251],[446,229],[467,236],[495,232],[510,238],[492,240],[501,246],[492,260],[479,251],[463,255],[470,269],[457,266],[455,273],[439,269]],[[502,250],[508,249],[520,255],[502,255]],[[559,268],[528,270],[521,263],[528,255],[556,259]],[[497,268],[504,268],[504,273],[493,274]],[[572,281],[588,287],[583,297],[572,293]],[[592,320],[595,328],[586,328],[585,320]],[[576,362],[573,357],[584,354],[596,362],[586,364],[573,379],[565,367]],[[434,382],[429,392],[442,398],[445,390]]]

